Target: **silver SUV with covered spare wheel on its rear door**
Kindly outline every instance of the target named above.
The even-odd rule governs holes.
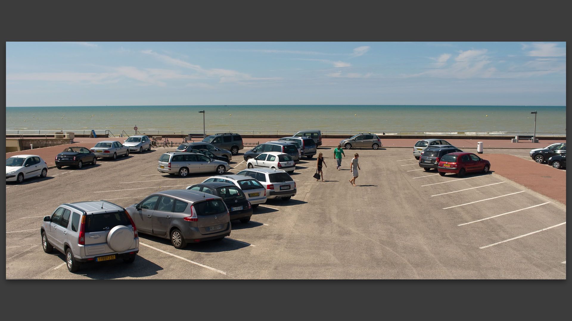
[[[105,200],[64,203],[40,227],[43,251],[54,247],[66,255],[67,270],[83,262],[122,258],[131,263],[139,252],[139,236],[125,208]]]

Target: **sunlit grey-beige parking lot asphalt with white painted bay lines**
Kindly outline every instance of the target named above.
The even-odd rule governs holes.
[[[535,163],[528,147],[485,149],[479,155],[491,161],[491,172],[464,178],[423,171],[412,144],[346,150],[340,171],[332,147],[320,147],[326,182],[312,178],[315,158],[302,160],[292,174],[296,196],[268,200],[247,224],[233,221],[223,242],[177,250],[169,240],[140,234],[133,264],[85,264],[76,274],[67,271],[63,254],[42,251],[42,217],[61,203],[105,199],[126,207],[214,175],[158,173],[157,159],[167,150],[81,170],[53,168],[43,179],[7,183],[6,278],[566,279],[565,198],[519,182],[529,170],[541,175],[539,182],[561,179],[565,190],[566,171]],[[358,186],[351,186],[348,165],[355,152],[362,170]],[[229,173],[246,167],[241,154],[231,167]]]

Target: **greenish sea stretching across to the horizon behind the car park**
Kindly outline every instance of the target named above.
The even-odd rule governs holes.
[[[204,113],[201,113],[204,111]],[[537,112],[536,114],[533,114]],[[6,134],[566,135],[566,106],[205,105],[6,107]]]

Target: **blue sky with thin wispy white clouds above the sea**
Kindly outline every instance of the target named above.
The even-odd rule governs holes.
[[[6,42],[6,106],[566,105],[565,42]]]

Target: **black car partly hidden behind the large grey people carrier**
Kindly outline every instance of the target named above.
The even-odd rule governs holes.
[[[220,196],[228,207],[231,220],[238,219],[240,223],[248,223],[252,216],[252,205],[240,187],[227,182],[209,182],[194,184],[186,187],[187,190],[205,192]]]

